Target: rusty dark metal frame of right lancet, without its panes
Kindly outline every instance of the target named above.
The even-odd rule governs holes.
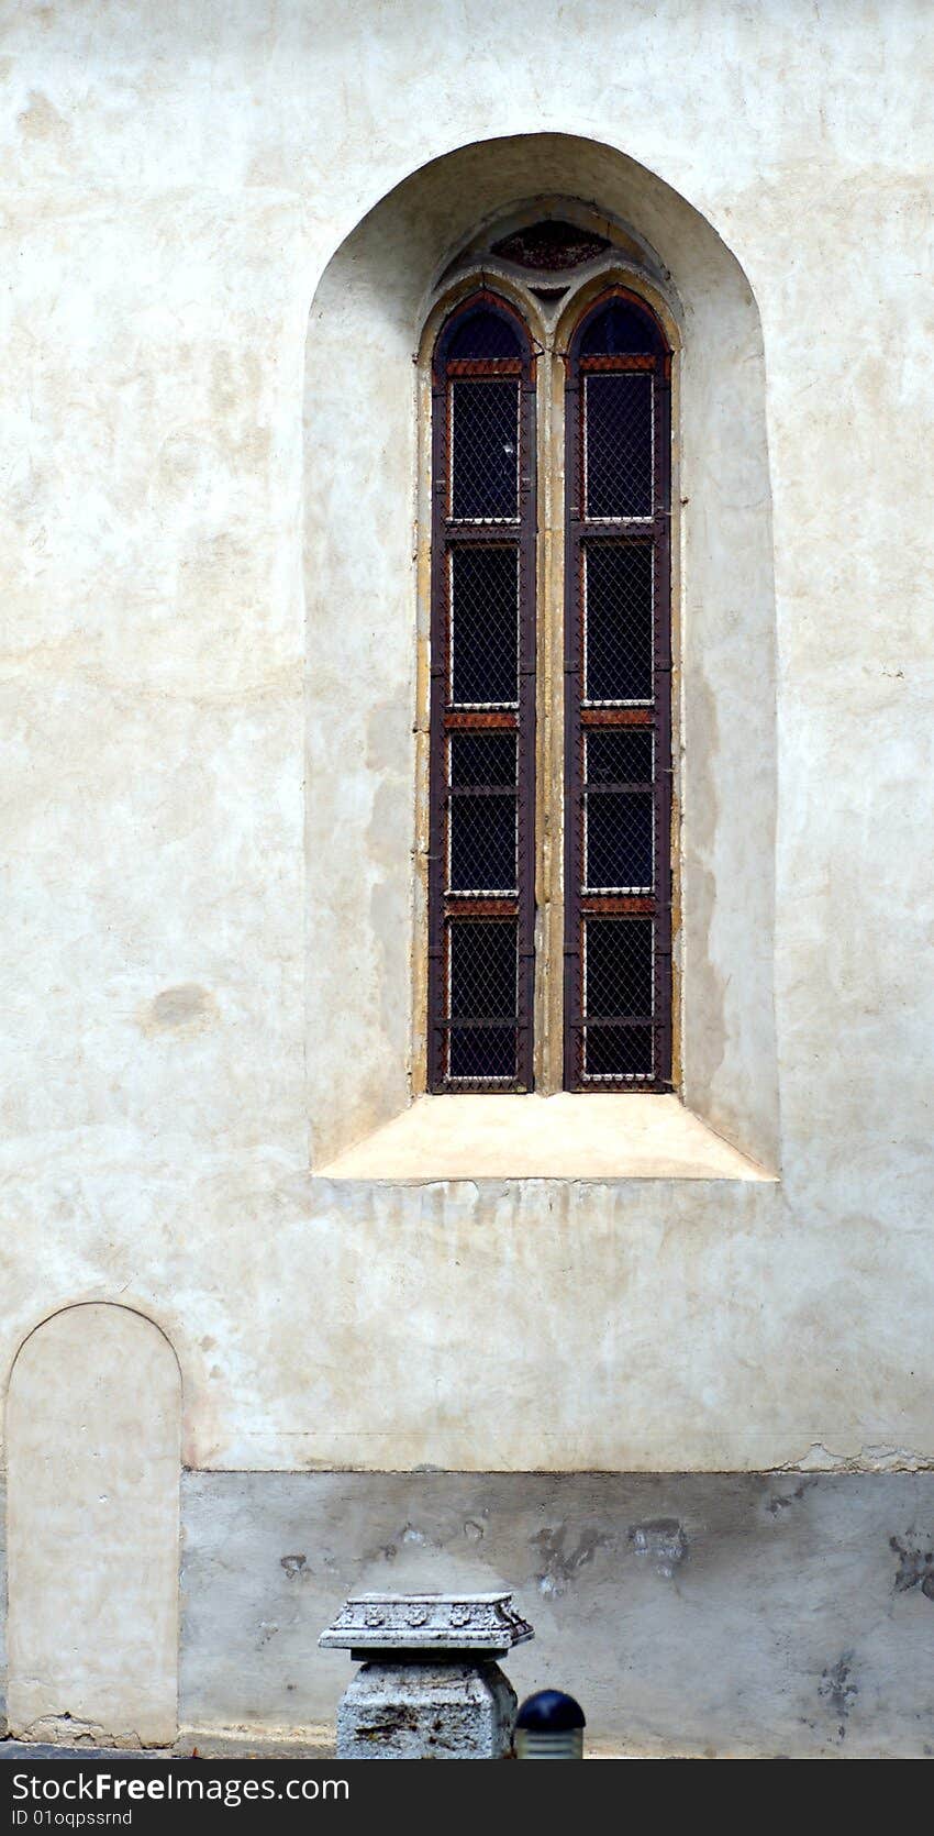
[[[582,353],[587,327],[613,301],[635,310],[651,329],[651,351],[607,356]],[[567,351],[565,386],[565,973],[563,973],[563,1081],[569,1091],[672,1089],[672,349],[651,307],[626,286],[611,285],[591,299]],[[589,516],[587,505],[587,378],[646,375],[651,384],[651,516]],[[651,694],[587,700],[585,595],[587,554],[596,543],[651,551]],[[651,784],[653,839],[650,889],[589,889],[585,878],[587,734],[618,729],[653,736],[651,778],[617,784],[648,791]],[[651,988],[644,1013],[589,1015],[585,1010],[587,924],[615,920],[651,924]],[[620,940],[624,933],[620,931]],[[635,931],[628,942],[637,942]],[[642,942],[639,942],[642,949]],[[626,1002],[620,1002],[624,1006]],[[587,1067],[587,1023],[642,1028],[651,1059],[639,1070],[595,1072]],[[596,1028],[595,1028],[596,1030]],[[637,1041],[637,1034],[629,1034]],[[637,1045],[633,1054],[639,1056]],[[598,1054],[595,1054],[598,1056]],[[624,1050],[620,1047],[620,1056]],[[620,1058],[617,1058],[617,1063]]]

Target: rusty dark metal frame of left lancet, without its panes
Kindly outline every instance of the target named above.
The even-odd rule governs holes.
[[[453,356],[468,314],[506,321],[516,356]],[[516,518],[455,516],[453,404],[457,382],[517,380]],[[461,505],[462,509],[462,505]],[[508,549],[517,569],[517,690],[510,701],[453,701],[451,622],[457,556]],[[428,848],[428,1089],[431,1092],[530,1091],[534,1083],[534,920],[536,920],[536,354],[521,312],[501,294],[477,286],[444,319],[431,362],[431,622],[429,622],[429,848]],[[451,740],[457,734],[516,734],[516,887],[451,889]],[[495,788],[501,795],[501,788]],[[475,795],[490,795],[490,788]],[[470,795],[470,793],[468,793]],[[516,933],[516,1010],[494,1021],[455,1017],[451,953],[457,925],[508,924]],[[472,933],[481,936],[481,931]],[[490,942],[494,938],[490,936]],[[461,944],[457,946],[461,947]],[[514,1074],[459,1074],[451,1039],[470,1026],[512,1030]]]

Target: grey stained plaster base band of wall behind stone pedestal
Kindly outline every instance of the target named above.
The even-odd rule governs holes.
[[[334,1718],[361,1586],[514,1586],[519,1695],[635,1753],[934,1753],[934,1474],[183,1480],[182,1720]]]

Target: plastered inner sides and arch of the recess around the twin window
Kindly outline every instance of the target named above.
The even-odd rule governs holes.
[[[314,1160],[321,1166],[411,1100],[424,925],[413,874],[424,795],[413,358],[448,263],[484,220],[543,195],[596,202],[629,226],[677,301],[681,1094],[774,1168],[774,575],[760,316],[739,263],[686,198],[617,149],[562,134],[481,141],[420,167],[341,242],[310,312]]]

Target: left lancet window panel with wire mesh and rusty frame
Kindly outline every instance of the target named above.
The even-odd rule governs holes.
[[[433,362],[431,1091],[532,1087],[534,369],[475,294]]]

